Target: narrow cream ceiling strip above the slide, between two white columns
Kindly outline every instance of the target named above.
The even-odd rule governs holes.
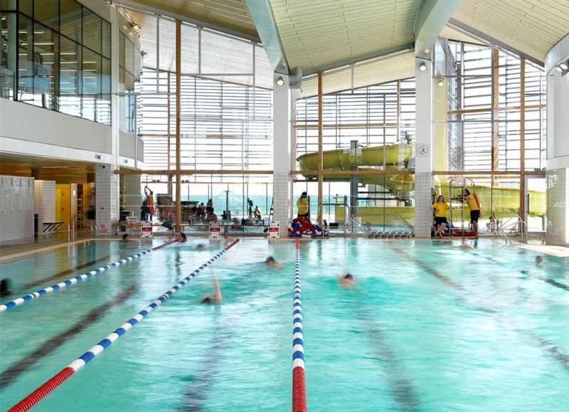
[[[409,51],[360,63],[353,68],[353,88],[378,85],[415,76],[415,53]],[[322,76],[323,93],[335,93],[352,88],[351,68],[331,70]],[[318,94],[318,78],[312,76],[302,82],[302,97]]]

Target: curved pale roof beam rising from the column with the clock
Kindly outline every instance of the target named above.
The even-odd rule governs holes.
[[[462,0],[425,0],[415,19],[415,56],[431,60],[437,36]]]

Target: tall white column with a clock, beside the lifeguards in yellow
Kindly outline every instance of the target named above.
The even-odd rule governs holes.
[[[420,70],[425,63],[426,70]],[[432,139],[432,63],[415,58],[415,237],[431,236]]]

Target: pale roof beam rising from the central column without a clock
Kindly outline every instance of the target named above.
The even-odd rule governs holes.
[[[269,0],[247,0],[247,6],[271,67],[275,73],[289,75],[289,63]]]

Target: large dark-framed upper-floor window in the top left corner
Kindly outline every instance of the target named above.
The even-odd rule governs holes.
[[[74,0],[0,7],[0,96],[110,125],[110,23]]]

